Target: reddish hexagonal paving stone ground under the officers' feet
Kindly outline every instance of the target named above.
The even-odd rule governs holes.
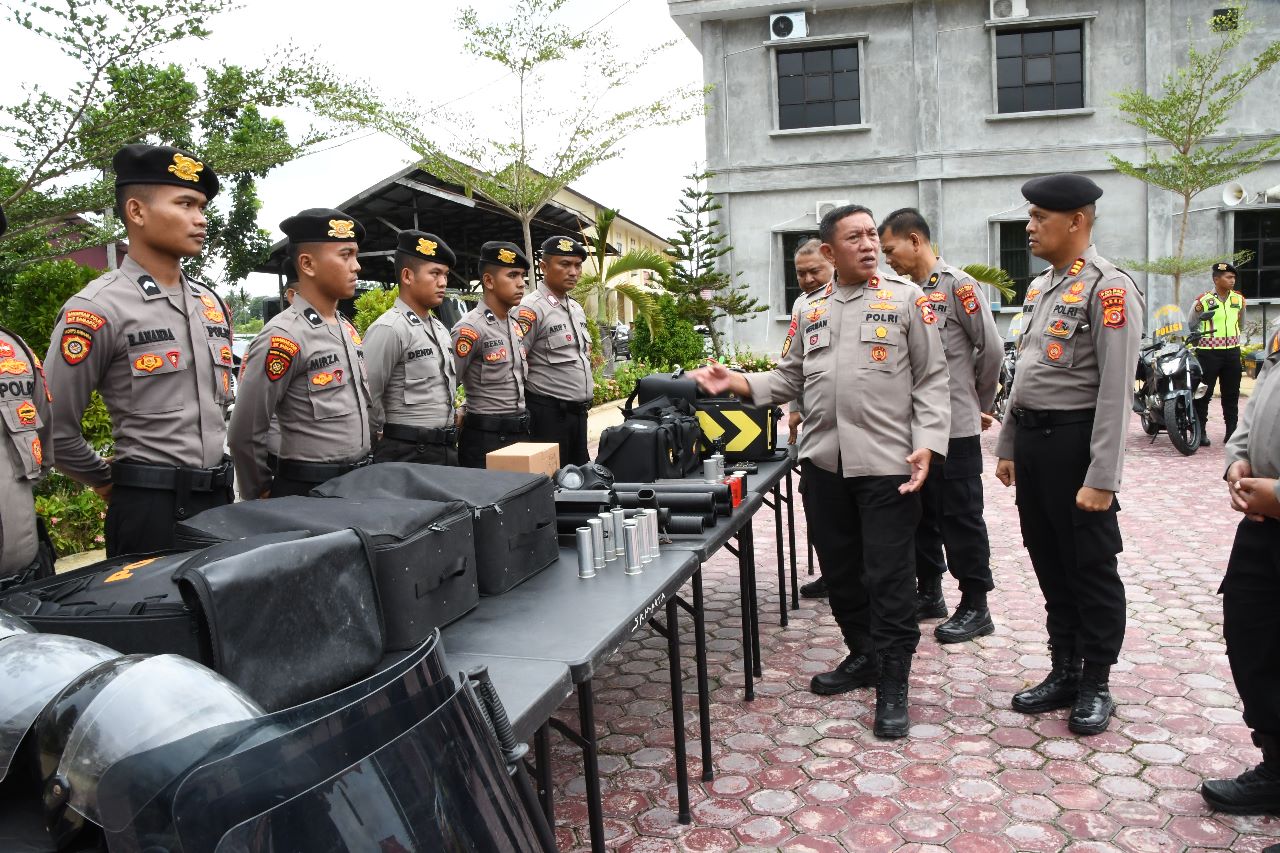
[[[808,692],[844,647],[824,602],[801,599],[778,624],[772,512],[755,519],[764,679],[742,701],[736,560],[704,567],[716,779],[701,783],[692,620],[685,638],[685,727],[694,821],[676,821],[666,640],[641,630],[596,674],[605,834],[626,853],[828,850],[1261,850],[1280,843],[1280,818],[1213,815],[1202,779],[1260,760],[1240,719],[1222,643],[1217,584],[1239,516],[1213,447],[1185,459],[1155,443],[1137,418],[1128,437],[1120,573],[1129,610],[1112,671],[1119,710],[1108,731],[1078,738],[1066,711],[1024,716],[1009,699],[1048,670],[1043,601],[1018,532],[1014,492],[987,451],[996,633],[938,646],[923,626],[911,670],[911,733],[870,733],[874,690]],[[799,502],[797,502],[799,505]],[[801,583],[805,525],[796,517]],[[955,606],[959,593],[946,584]],[[576,724],[576,704],[561,708]],[[554,739],[557,838],[588,849],[582,765]]]

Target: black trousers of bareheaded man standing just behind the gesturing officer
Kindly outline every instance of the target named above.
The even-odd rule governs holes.
[[[929,476],[920,489],[916,578],[941,578],[950,570],[961,589],[995,589],[991,540],[982,505],[982,439],[978,435],[952,438],[947,442],[946,459],[933,457]]]

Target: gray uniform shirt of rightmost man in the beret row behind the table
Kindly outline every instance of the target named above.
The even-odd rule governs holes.
[[[582,306],[544,284],[525,296],[516,321],[525,336],[529,391],[568,402],[591,400],[591,333]]]

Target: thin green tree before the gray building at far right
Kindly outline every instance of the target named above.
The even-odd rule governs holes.
[[[1239,67],[1229,67],[1231,54],[1252,29],[1245,10],[1245,4],[1233,3],[1224,14],[1215,15],[1210,22],[1212,41],[1207,49],[1196,46],[1193,23],[1188,20],[1187,63],[1165,78],[1160,95],[1137,88],[1115,95],[1124,120],[1153,137],[1158,147],[1148,149],[1143,163],[1108,155],[1111,165],[1116,172],[1166,190],[1181,201],[1174,254],[1126,263],[1134,269],[1171,277],[1174,302],[1179,305],[1183,277],[1203,273],[1219,260],[1216,255],[1189,256],[1185,252],[1192,200],[1204,190],[1248,174],[1280,155],[1277,134],[1252,143],[1238,137],[1216,143],[1208,141],[1219,134],[1245,88],[1280,61],[1280,41],[1274,41],[1257,56]],[[1169,154],[1162,152],[1166,146]],[[1236,256],[1236,263],[1247,257]]]

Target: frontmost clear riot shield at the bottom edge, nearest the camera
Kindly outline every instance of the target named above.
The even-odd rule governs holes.
[[[470,686],[428,719],[285,803],[214,853],[540,850]]]

